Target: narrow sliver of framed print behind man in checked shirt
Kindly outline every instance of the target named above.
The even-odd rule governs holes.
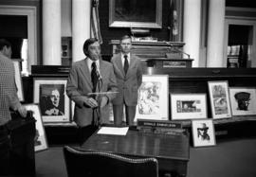
[[[24,101],[23,84],[21,77],[20,60],[12,60],[15,70],[15,83],[17,87],[17,95],[20,101]]]

